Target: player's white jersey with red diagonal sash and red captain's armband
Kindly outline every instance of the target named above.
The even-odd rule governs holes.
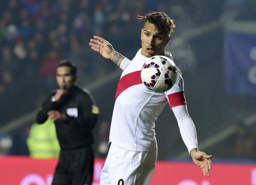
[[[157,149],[155,121],[169,103],[177,118],[180,132],[188,150],[197,148],[194,124],[187,113],[181,72],[174,86],[163,93],[149,90],[141,81],[140,72],[148,57],[137,52],[132,61],[123,59],[123,69],[111,121],[109,139],[115,145],[131,151]],[[166,52],[172,60],[172,55]],[[176,107],[179,107],[177,110]],[[184,116],[185,115],[185,116]]]

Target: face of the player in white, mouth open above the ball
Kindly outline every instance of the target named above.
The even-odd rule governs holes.
[[[141,29],[141,54],[146,57],[165,55],[165,46],[169,41],[170,38],[160,33],[154,24],[146,22]]]

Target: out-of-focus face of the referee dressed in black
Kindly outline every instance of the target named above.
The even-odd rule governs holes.
[[[76,83],[76,76],[71,73],[71,67],[61,66],[57,68],[56,80],[61,89],[69,90]]]

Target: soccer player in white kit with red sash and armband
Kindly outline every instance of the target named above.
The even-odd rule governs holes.
[[[132,60],[115,51],[106,40],[94,36],[91,48],[111,59],[123,70],[112,115],[109,140],[111,146],[101,171],[100,185],[147,185],[155,169],[157,142],[155,121],[169,103],[180,128],[180,134],[196,165],[210,177],[211,155],[198,150],[196,129],[187,111],[182,73],[174,86],[157,93],[142,84],[140,71],[146,60],[154,55],[172,60],[166,45],[174,32],[174,21],[163,12],[149,12],[138,18],[144,21],[141,29],[142,47]],[[125,42],[125,41],[124,41]]]

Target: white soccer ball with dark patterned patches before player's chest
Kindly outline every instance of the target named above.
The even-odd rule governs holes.
[[[156,92],[164,92],[176,82],[177,68],[170,58],[156,55],[144,63],[140,76],[147,88]]]

